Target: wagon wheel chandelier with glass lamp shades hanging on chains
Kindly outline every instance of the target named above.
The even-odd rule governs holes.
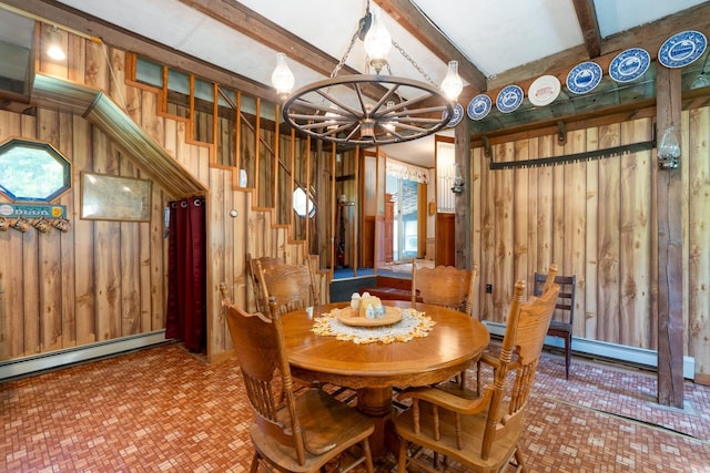
[[[278,53],[272,83],[283,101],[283,119],[296,130],[317,140],[337,144],[383,145],[417,140],[436,133],[454,116],[462,92],[458,62],[450,61],[440,88],[392,40],[378,9],[365,16],[349,47],[329,79],[295,92],[294,75],[286,55]],[[363,40],[368,66],[375,74],[337,75],[357,39]],[[392,75],[387,54],[395,47],[428,81]],[[366,65],[366,66],[367,66]],[[384,74],[383,69],[389,74]]]

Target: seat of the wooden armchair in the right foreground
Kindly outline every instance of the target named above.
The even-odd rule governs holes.
[[[466,446],[463,450],[458,450],[456,448],[454,415],[445,410],[439,411],[442,436],[439,441],[433,441],[434,418],[432,415],[432,405],[426,402],[420,402],[419,405],[419,425],[422,428],[419,433],[415,433],[413,429],[413,410],[403,412],[395,420],[397,433],[407,441],[426,449],[436,450],[439,454],[477,472],[497,472],[515,454],[523,429],[508,430],[505,436],[496,438],[490,455],[487,460],[481,460],[480,448],[488,411],[462,418],[462,443]]]

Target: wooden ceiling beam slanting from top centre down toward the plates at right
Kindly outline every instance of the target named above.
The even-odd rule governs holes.
[[[374,0],[397,23],[407,30],[422,44],[427,47],[442,61],[458,61],[458,74],[476,91],[487,88],[486,76],[450,41],[442,34],[428,18],[417,10],[409,0]]]

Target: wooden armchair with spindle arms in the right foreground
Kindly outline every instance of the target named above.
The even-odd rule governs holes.
[[[460,398],[436,388],[409,389],[398,395],[399,401],[412,402],[395,419],[402,439],[399,473],[408,464],[435,471],[432,463],[410,454],[409,446],[423,446],[476,472],[498,472],[509,463],[525,471],[518,442],[559,286],[523,304],[525,287],[523,280],[515,285],[494,381],[480,398]]]

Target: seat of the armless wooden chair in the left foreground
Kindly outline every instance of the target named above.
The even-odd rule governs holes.
[[[375,430],[373,421],[355,409],[333,399],[321,389],[308,389],[296,398],[296,410],[307,412],[302,415],[301,426],[307,432],[306,441],[314,449],[336,445],[321,455],[306,453],[305,464],[300,465],[293,448],[278,442],[275,438],[264,434],[256,423],[252,423],[250,434],[254,448],[270,462],[280,469],[291,472],[312,472],[329,462],[356,443],[362,442]],[[280,420],[288,425],[290,417],[286,409],[277,413]],[[334,421],[336,420],[336,421]]]

